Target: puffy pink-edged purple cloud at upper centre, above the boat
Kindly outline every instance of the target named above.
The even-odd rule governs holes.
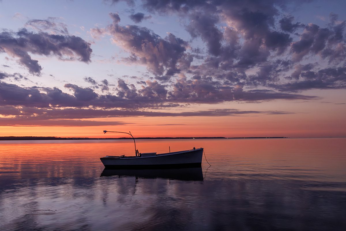
[[[120,26],[120,17],[110,13],[113,23],[107,28],[92,29],[94,36],[109,33],[113,41],[130,53],[124,59],[126,62],[145,64],[155,75],[172,75],[180,72],[179,63],[186,65],[185,58],[187,42],[168,33],[161,38],[146,27],[135,25]],[[96,35],[95,35],[96,34]],[[191,60],[190,60],[191,62]]]

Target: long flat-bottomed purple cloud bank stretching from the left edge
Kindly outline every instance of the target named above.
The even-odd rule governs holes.
[[[343,70],[334,73],[325,70],[324,75],[334,75],[338,80],[345,79]],[[284,90],[285,87],[271,87]],[[36,108],[55,107],[94,107],[94,108],[163,108],[177,107],[182,103],[216,104],[225,101],[260,101],[274,99],[315,99],[314,96],[276,92],[273,90],[244,90],[242,86],[231,87],[212,78],[201,77],[194,80],[180,79],[172,86],[157,81],[146,81],[146,85],[137,89],[124,80],[118,80],[117,95],[100,95],[91,88],[82,88],[67,83],[73,95],[59,88],[19,87],[0,81],[0,106],[25,106]]]

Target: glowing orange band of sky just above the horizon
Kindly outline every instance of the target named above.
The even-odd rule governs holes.
[[[101,121],[101,120],[99,120]],[[110,118],[107,118],[110,121]],[[129,132],[135,137],[345,137],[344,119],[311,118],[309,114],[219,117],[124,117],[112,126],[2,126],[0,136],[113,138]],[[318,125],[318,126],[317,126]]]

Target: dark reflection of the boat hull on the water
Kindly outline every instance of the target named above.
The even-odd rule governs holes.
[[[175,168],[175,169],[103,169],[101,176],[135,176],[136,178],[166,178],[172,180],[202,181],[202,168]]]

